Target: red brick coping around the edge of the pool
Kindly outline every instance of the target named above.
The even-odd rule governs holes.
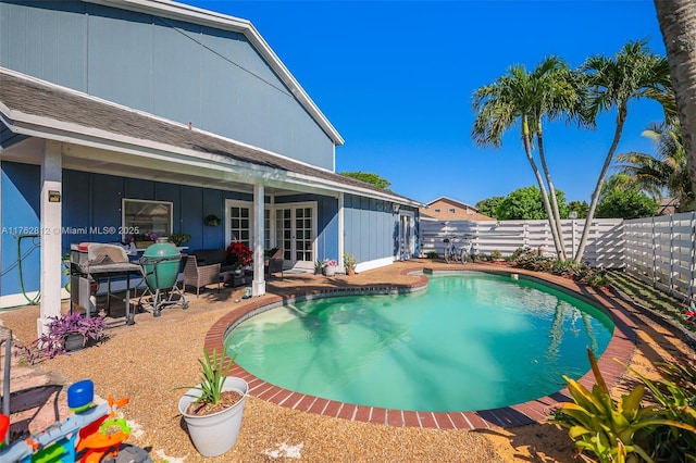
[[[604,308],[614,323],[614,330],[602,355],[597,364],[609,387],[614,385],[623,375],[624,367],[614,361],[617,359],[623,364],[629,364],[636,343],[635,324],[623,312],[619,302],[612,296],[596,291],[593,288],[581,286],[574,281],[549,274],[527,272],[520,268],[492,268],[490,266],[474,266],[455,271],[456,273],[481,271],[498,275],[518,274],[520,277],[542,280],[556,289],[572,292]],[[249,317],[273,309],[278,305],[291,303],[294,301],[313,298],[350,296],[350,295],[374,295],[374,293],[397,293],[413,292],[427,287],[427,277],[424,273],[445,274],[455,273],[452,271],[432,270],[425,266],[406,268],[401,275],[413,275],[414,281],[398,285],[363,285],[348,288],[294,288],[289,293],[265,295],[261,298],[250,299],[247,303],[237,306],[226,313],[213,324],[206,335],[204,346],[209,351],[213,349],[222,350],[227,333],[236,325]],[[487,429],[490,427],[512,427],[545,421],[552,409],[562,402],[570,400],[568,388],[558,392],[545,396],[535,400],[518,403],[498,409],[470,411],[470,412],[414,412],[382,409],[377,406],[355,405],[335,400],[322,399],[300,392],[294,392],[278,386],[274,386],[261,378],[250,374],[238,364],[234,364],[229,375],[238,376],[249,384],[249,395],[259,399],[276,403],[278,405],[299,410],[302,412],[316,413],[320,415],[339,417],[350,421],[368,422],[387,426],[409,426],[420,428],[436,429]],[[595,378],[592,371],[585,374],[579,381],[587,388],[592,388]]]

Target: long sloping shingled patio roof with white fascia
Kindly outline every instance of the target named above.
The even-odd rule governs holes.
[[[104,101],[0,67],[0,137],[18,136],[99,146],[136,155],[192,159],[214,168],[244,171],[264,182],[321,187],[413,207],[422,203],[371,184],[303,164],[214,134]],[[21,138],[21,137],[20,137]]]

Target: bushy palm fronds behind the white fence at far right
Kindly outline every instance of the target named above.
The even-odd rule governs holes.
[[[679,125],[654,124],[643,135],[655,142],[657,154],[618,154],[621,172],[630,175],[638,188],[654,198],[659,199],[664,192],[675,198],[678,212],[688,211],[694,202],[694,192]]]

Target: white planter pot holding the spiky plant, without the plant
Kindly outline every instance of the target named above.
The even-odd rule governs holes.
[[[198,389],[189,389],[178,401],[178,411],[186,421],[188,435],[196,450],[203,456],[217,456],[225,453],[237,441],[241,426],[241,413],[247,400],[249,385],[241,378],[229,376],[225,379],[223,390],[237,390],[243,398],[227,410],[212,415],[196,416],[186,413],[191,402],[200,397]]]

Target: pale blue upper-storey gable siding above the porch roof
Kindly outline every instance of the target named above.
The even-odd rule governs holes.
[[[2,0],[0,66],[334,168],[331,138],[239,33],[79,1]]]

